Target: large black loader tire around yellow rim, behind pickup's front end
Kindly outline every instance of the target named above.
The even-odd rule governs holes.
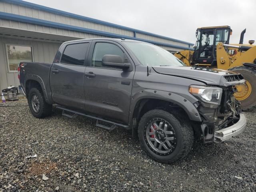
[[[231,68],[230,71],[238,72],[242,74],[245,80],[250,82],[251,94],[241,102],[241,108],[244,111],[253,110],[256,107],[256,69],[248,66],[240,66]]]

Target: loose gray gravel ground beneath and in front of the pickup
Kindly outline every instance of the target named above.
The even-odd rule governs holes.
[[[58,109],[36,119],[26,100],[5,105],[14,107],[0,107],[0,191],[256,191],[255,113],[232,140],[195,142],[181,162],[161,164],[126,130]]]

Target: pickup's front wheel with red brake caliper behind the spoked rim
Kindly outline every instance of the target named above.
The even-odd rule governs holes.
[[[189,122],[164,110],[144,114],[138,126],[138,138],[144,151],[162,163],[178,162],[191,150],[194,132]]]

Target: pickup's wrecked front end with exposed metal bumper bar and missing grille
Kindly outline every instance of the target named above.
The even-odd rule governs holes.
[[[244,84],[246,80],[241,76],[232,80],[234,81],[227,81],[224,86],[218,87],[222,89],[219,104],[217,100],[213,104],[202,99],[196,104],[203,120],[200,128],[204,144],[228,140],[240,134],[246,127],[246,117],[242,114],[240,102],[233,96],[237,92],[236,85]]]

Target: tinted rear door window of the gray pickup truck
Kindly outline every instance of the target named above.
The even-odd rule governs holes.
[[[61,63],[72,65],[84,65],[84,58],[88,49],[89,43],[71,44],[66,46]]]

